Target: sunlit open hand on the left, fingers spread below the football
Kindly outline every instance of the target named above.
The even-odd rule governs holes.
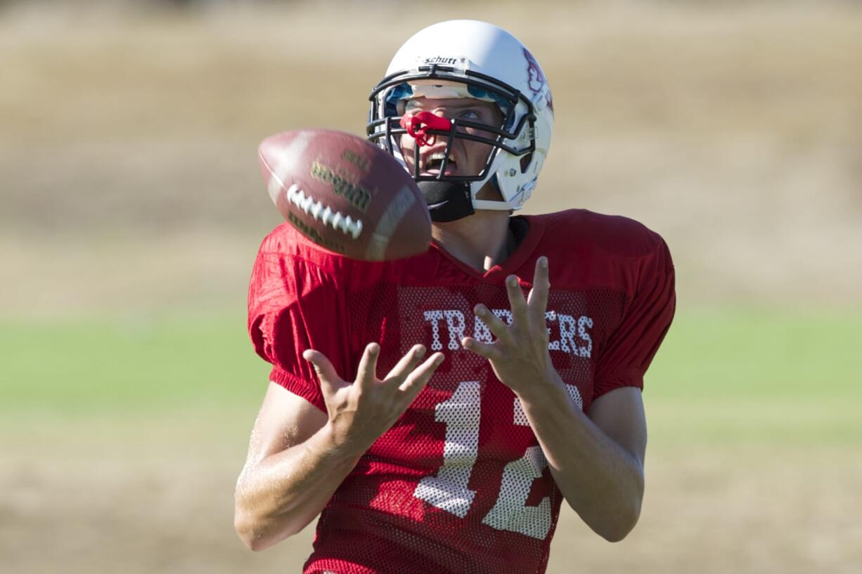
[[[303,358],[314,365],[320,378],[329,415],[328,430],[341,454],[361,456],[395,424],[443,362],[443,353],[434,353],[420,364],[425,353],[424,346],[413,346],[383,379],[379,379],[380,346],[370,343],[359,360],[359,371],[353,383],[339,377],[323,353],[313,349],[303,353]]]

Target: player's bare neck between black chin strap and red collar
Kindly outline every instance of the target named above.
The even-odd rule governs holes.
[[[434,223],[431,236],[454,258],[479,271],[503,263],[515,250],[508,211],[479,210],[458,221]]]

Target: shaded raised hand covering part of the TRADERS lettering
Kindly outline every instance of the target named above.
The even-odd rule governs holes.
[[[548,353],[545,311],[550,288],[547,257],[540,257],[536,261],[533,289],[526,300],[518,278],[515,275],[506,278],[511,325],[501,321],[482,303],[473,308],[497,340],[492,343],[482,343],[472,337],[461,340],[465,349],[488,359],[497,378],[518,396],[528,396],[539,390],[541,383],[561,382]]]

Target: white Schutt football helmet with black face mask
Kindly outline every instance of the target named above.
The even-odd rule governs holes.
[[[476,174],[446,176],[444,163],[439,175],[420,175],[420,146],[415,146],[413,177],[420,187],[428,181],[453,182],[468,192],[473,209],[521,209],[535,187],[553,129],[551,88],[533,54],[502,28],[473,20],[440,22],[406,41],[372,90],[367,127],[368,139],[405,168],[399,140],[408,130],[399,123],[399,103],[419,96],[475,97],[497,103],[503,115],[499,126],[455,119],[448,129],[426,127],[430,136],[448,137],[447,157],[454,138],[482,141],[491,151]],[[480,128],[490,135],[468,135],[459,128]],[[489,181],[503,201],[476,199]]]

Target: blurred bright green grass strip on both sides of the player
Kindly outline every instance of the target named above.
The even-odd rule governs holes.
[[[746,434],[783,443],[811,431],[812,442],[862,446],[860,325],[859,309],[683,309],[645,395],[653,408],[675,411],[668,430],[678,436],[659,434],[661,442],[721,441],[712,436],[721,431],[724,441]],[[6,320],[0,348],[0,412],[17,415],[253,409],[268,374],[239,313]],[[727,416],[742,428],[728,428]]]

